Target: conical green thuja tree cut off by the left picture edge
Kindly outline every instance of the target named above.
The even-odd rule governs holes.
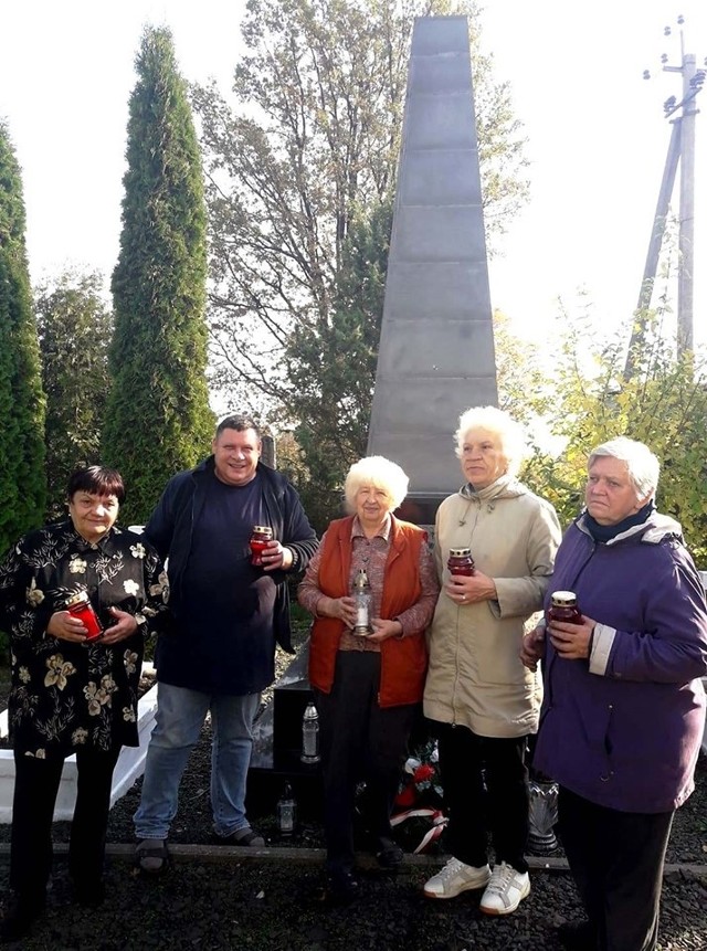
[[[44,395],[20,168],[0,121],[0,549],[44,519]]]

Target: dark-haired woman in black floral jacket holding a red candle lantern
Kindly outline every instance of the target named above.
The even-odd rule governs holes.
[[[0,564],[0,626],[12,649],[9,700],[15,784],[10,856],[14,892],[0,937],[27,933],[44,908],[51,827],[64,759],[76,754],[77,795],[68,867],[76,900],[103,900],[113,770],[138,746],[137,700],[145,632],[166,611],[159,559],[117,528],[125,489],[102,466],[68,483],[70,520],[32,531]],[[165,585],[166,587],[166,585]],[[103,633],[87,641],[67,610],[86,593]],[[165,591],[166,593],[166,591]]]

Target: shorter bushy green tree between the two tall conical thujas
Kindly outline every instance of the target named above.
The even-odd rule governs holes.
[[[102,289],[98,273],[67,270],[35,293],[50,518],[64,511],[66,483],[76,466],[101,462],[113,327]]]

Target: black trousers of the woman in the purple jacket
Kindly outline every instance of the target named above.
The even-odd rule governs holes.
[[[558,828],[598,951],[654,951],[674,812],[619,812],[560,786]]]

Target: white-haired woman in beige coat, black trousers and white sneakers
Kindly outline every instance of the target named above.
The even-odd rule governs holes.
[[[467,410],[456,441],[466,484],[437,511],[442,592],[424,691],[453,857],[424,894],[454,898],[484,888],[482,911],[508,915],[530,891],[525,749],[541,700],[539,678],[523,666],[519,651],[524,622],[542,607],[561,532],[552,506],[516,479],[525,438],[507,413]],[[450,549],[463,547],[472,549],[475,573],[451,575]]]

